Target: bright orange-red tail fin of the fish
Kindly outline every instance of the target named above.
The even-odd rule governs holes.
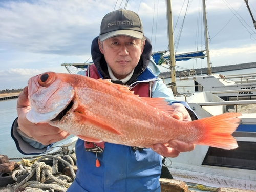
[[[195,143],[212,147],[231,150],[238,147],[236,139],[231,135],[236,131],[240,118],[240,113],[225,113],[209,118],[199,119],[205,129],[201,139]]]

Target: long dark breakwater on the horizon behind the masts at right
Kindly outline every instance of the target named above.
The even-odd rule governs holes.
[[[256,68],[256,62],[249,62],[249,63],[242,63],[242,64],[235,64],[235,65],[228,65],[228,66],[217,66],[217,67],[212,67],[211,72],[212,73],[220,73],[223,71],[233,71],[233,70],[240,70],[240,69],[250,69],[250,68]],[[189,70],[184,70],[184,71],[176,71],[176,77],[179,77],[181,72],[187,71],[189,74]],[[206,74],[207,73],[207,68],[200,68],[200,69],[194,69],[197,74]],[[162,76],[164,78],[170,77],[170,72],[163,72],[160,73],[158,76]]]

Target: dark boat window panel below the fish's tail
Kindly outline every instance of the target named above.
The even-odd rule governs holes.
[[[238,141],[238,146],[234,150],[209,147],[202,165],[256,170],[256,143]]]

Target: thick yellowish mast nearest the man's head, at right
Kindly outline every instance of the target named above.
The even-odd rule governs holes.
[[[177,87],[176,87],[176,73],[175,73],[172,3],[170,2],[170,0],[166,0],[166,11],[167,11],[168,42],[169,42],[169,52],[170,52],[171,88],[172,88],[173,93],[176,94],[178,92],[177,92]]]

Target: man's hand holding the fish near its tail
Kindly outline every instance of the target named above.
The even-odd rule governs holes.
[[[175,112],[175,115],[173,115],[174,118],[181,121],[191,121],[190,115],[184,105],[180,103],[174,103],[172,104],[172,108]],[[164,157],[177,157],[180,152],[189,152],[194,150],[194,148],[194,144],[178,140],[171,140],[167,144],[155,144],[152,147],[155,152]]]

